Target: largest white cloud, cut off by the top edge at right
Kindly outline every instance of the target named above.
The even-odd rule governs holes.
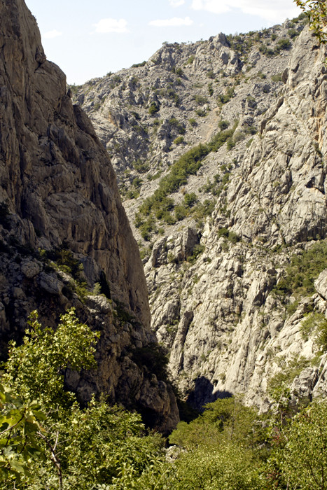
[[[207,10],[212,13],[230,12],[232,8],[239,8],[243,13],[258,15],[270,22],[282,22],[286,18],[293,18],[300,14],[300,10],[292,0],[193,0],[191,7],[194,10]]]

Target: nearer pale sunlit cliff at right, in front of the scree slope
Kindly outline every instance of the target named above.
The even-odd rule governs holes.
[[[291,256],[308,250],[308,239],[326,237],[325,59],[325,48],[304,31],[283,92],[202,232],[205,250],[195,265],[174,254],[169,260],[160,241],[146,264],[153,328],[169,346],[173,376],[197,407],[244,393],[265,409],[281,370],[289,370],[294,396],[326,396],[326,355],[313,327],[303,334],[308,315],[326,316],[326,272],[316,282],[318,294],[291,296],[298,301],[291,315],[276,293]],[[162,304],[163,297],[169,302]],[[298,368],[293,377],[291,366]]]

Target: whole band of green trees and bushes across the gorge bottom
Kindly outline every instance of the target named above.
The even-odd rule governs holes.
[[[34,312],[22,345],[11,344],[0,385],[0,489],[326,489],[326,401],[294,415],[286,395],[259,416],[242,400],[217,400],[179,423],[167,460],[164,440],[146,433],[138,414],[105,400],[81,408],[64,390],[67,368],[95,366],[95,342],[71,309],[57,330]]]

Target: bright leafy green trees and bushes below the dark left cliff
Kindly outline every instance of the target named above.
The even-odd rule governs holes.
[[[95,365],[96,339],[71,309],[57,330],[41,328],[34,312],[23,344],[11,344],[0,385],[1,490],[143,488],[162,468],[161,437],[144,435],[139,414],[103,400],[83,409],[64,390],[67,367]]]

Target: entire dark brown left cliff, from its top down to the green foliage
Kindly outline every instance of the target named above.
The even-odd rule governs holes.
[[[53,325],[73,304],[102,337],[98,371],[83,379],[71,373],[67,383],[84,400],[104,389],[167,430],[178,419],[174,395],[133,360],[154,337],[139,251],[109,158],[71,103],[64,73],[46,60],[24,1],[1,0],[0,15],[2,342],[21,333],[32,309]],[[110,300],[88,297],[97,281]]]

